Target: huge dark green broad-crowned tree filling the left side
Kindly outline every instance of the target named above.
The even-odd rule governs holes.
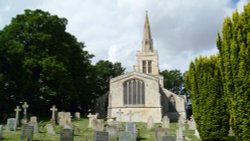
[[[48,113],[52,104],[87,109],[79,97],[88,98],[92,55],[66,25],[65,18],[25,10],[0,31],[0,113],[12,112],[23,101],[37,114]]]

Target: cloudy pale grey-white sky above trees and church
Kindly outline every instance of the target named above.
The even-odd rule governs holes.
[[[127,71],[141,49],[145,11],[161,70],[188,69],[195,57],[217,53],[223,20],[248,0],[0,0],[0,29],[24,9],[42,9],[68,19],[67,31],[100,59]]]

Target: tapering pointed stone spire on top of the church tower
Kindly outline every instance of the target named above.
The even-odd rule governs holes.
[[[148,20],[148,12],[146,11],[146,18],[144,24],[144,35],[142,40],[142,51],[153,51],[153,40],[150,32],[150,25]]]

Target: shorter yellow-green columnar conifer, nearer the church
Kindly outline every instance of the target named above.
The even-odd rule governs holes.
[[[193,115],[202,140],[227,140],[229,114],[219,58],[200,57],[191,62],[185,86],[191,93]]]

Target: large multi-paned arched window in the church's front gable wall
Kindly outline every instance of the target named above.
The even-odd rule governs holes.
[[[145,104],[145,85],[139,79],[131,79],[123,83],[124,105]]]

